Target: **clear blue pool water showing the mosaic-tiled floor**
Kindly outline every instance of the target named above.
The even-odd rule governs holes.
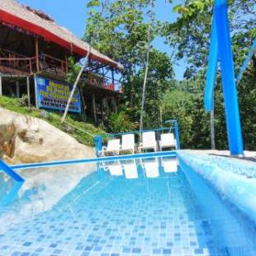
[[[50,211],[1,225],[1,256],[230,255],[180,169],[159,178],[92,173]]]

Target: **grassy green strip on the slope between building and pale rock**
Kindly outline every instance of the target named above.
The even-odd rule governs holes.
[[[26,104],[24,104],[24,98],[16,99],[10,97],[0,97],[0,107],[4,107],[19,114],[43,119],[49,122],[50,125],[55,126],[59,130],[63,130],[67,134],[73,136],[73,138],[84,145],[93,146],[93,138],[91,135],[105,133],[104,130],[96,128],[92,124],[79,121],[78,116],[69,115],[67,117],[66,123],[61,124],[61,116],[57,112],[44,111],[37,109],[36,107],[24,107],[25,105]]]

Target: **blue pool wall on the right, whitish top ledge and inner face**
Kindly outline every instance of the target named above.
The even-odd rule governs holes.
[[[256,251],[256,222],[255,216],[252,216],[254,211],[246,211],[248,206],[244,206],[244,201],[239,201],[243,200],[243,197],[246,197],[245,201],[253,200],[254,192],[250,192],[252,187],[246,187],[243,183],[239,185],[236,180],[230,180],[230,177],[225,178],[226,172],[233,172],[221,168],[220,159],[224,161],[223,167],[230,161],[220,157],[178,152],[179,167],[186,174],[198,204],[215,227],[216,243],[226,246],[230,255],[254,255]],[[217,160],[218,164],[214,164]],[[252,166],[249,165],[249,168],[251,171]],[[216,172],[220,172],[220,177],[213,174]],[[235,175],[240,176],[240,174]],[[224,180],[221,180],[221,177]],[[226,190],[225,182],[230,183]],[[230,189],[232,185],[233,190]],[[233,194],[236,193],[240,196],[235,197]]]

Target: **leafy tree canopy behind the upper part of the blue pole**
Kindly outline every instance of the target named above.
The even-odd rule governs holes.
[[[187,59],[186,78],[205,69],[210,42],[213,0],[188,0],[173,7],[179,17],[166,22],[163,36],[174,50],[174,58]],[[229,1],[230,31],[234,50],[235,67],[239,68],[256,36],[254,0]]]

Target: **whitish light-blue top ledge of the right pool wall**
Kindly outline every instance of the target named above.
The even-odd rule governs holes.
[[[245,161],[213,155],[178,152],[206,182],[256,223],[256,166]]]

